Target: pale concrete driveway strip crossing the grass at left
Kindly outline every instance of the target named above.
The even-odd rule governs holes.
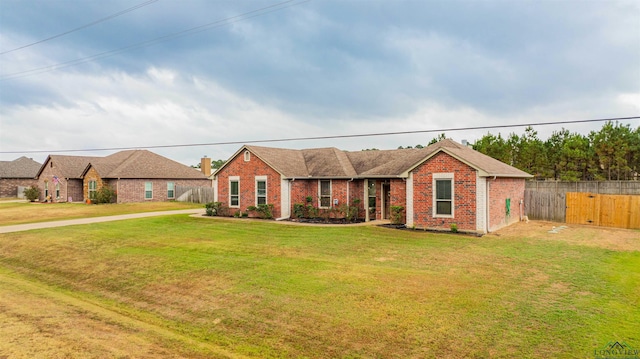
[[[181,210],[175,210],[175,211],[158,211],[158,212],[146,212],[146,213],[121,214],[121,215],[117,215],[117,216],[78,218],[78,219],[68,219],[68,220],[63,220],[63,221],[15,224],[15,225],[11,225],[11,226],[0,226],[0,233],[12,233],[12,232],[30,231],[32,229],[43,229],[43,228],[74,226],[74,225],[78,225],[78,224],[90,224],[90,223],[102,223],[102,222],[111,222],[111,221],[122,221],[122,220],[125,220],[125,219],[157,217],[157,216],[170,216],[170,215],[174,215],[174,214],[197,214],[197,215],[201,215],[201,214],[204,214],[204,213],[205,213],[205,209],[204,208],[195,208],[195,209],[181,209]]]

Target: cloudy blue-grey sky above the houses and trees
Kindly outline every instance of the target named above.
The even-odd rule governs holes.
[[[0,160],[640,115],[637,0],[277,4],[0,0]],[[534,128],[544,140],[561,127]],[[437,134],[260,145],[393,149]],[[238,148],[151,150],[193,165]]]

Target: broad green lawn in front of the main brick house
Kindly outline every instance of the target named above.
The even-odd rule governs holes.
[[[2,235],[0,269],[255,357],[640,347],[640,252],[562,240],[171,216]]]

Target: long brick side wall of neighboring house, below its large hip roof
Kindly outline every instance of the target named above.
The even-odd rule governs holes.
[[[151,182],[153,184],[151,199],[145,199],[146,182]],[[116,190],[118,203],[129,203],[164,202],[174,200],[174,198],[168,198],[168,182],[173,182],[175,186],[211,187],[211,180],[209,179],[109,179],[104,183]]]

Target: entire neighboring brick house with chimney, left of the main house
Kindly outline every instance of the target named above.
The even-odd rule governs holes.
[[[41,200],[87,201],[108,185],[118,203],[175,199],[176,186],[209,187],[195,168],[147,150],[120,151],[106,157],[50,155],[38,172]]]

